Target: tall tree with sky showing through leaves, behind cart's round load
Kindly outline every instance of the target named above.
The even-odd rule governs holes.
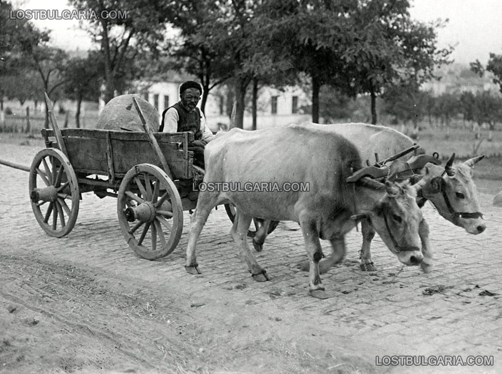
[[[128,73],[137,59],[156,59],[166,35],[166,22],[173,14],[170,2],[154,0],[71,0],[77,9],[126,11],[126,17],[99,17],[90,20],[88,29],[103,56],[104,99],[111,100],[115,90],[127,86]],[[117,84],[117,83],[121,84]]]

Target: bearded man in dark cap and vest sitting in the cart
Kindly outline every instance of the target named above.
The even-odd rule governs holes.
[[[207,127],[206,118],[197,107],[202,94],[202,87],[194,81],[187,81],[180,86],[180,98],[173,106],[162,112],[160,132],[192,131],[194,141],[188,150],[194,152],[194,164],[204,168],[204,147],[215,136]]]

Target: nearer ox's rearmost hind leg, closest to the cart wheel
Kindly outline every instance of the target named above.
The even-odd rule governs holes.
[[[186,250],[185,270],[190,274],[200,274],[195,249],[200,232],[207,221],[207,217],[217,203],[217,194],[201,192],[197,202],[197,208],[190,219],[190,232]]]

